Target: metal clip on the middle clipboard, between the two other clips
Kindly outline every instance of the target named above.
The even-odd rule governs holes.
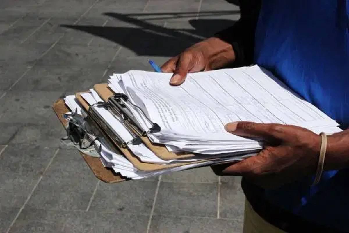
[[[115,142],[122,148],[126,148],[129,144],[132,145],[140,145],[142,143],[142,139],[140,137],[138,137],[135,133],[133,133],[131,130],[127,129],[128,132],[133,136],[132,140],[129,141],[124,141],[119,134],[110,127],[110,125],[105,121],[105,119],[99,114],[98,111],[95,110],[94,107],[102,107],[105,108],[107,110],[110,110],[111,106],[109,103],[106,102],[97,102],[95,104],[92,104],[89,108],[89,114],[91,116],[91,118],[94,119],[94,121],[99,125],[99,127],[101,127],[106,133],[107,135],[111,136]],[[122,121],[124,123],[124,120],[122,119],[122,117],[119,114],[115,114],[113,111],[111,111],[111,113],[114,115],[114,117],[119,120]]]

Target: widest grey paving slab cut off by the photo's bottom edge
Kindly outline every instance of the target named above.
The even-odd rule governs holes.
[[[146,232],[149,216],[97,212],[23,209],[10,233]]]

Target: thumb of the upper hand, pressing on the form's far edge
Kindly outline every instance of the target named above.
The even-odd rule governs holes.
[[[170,84],[177,86],[181,85],[187,77],[188,71],[194,66],[194,59],[192,53],[182,53],[177,61],[176,69],[170,80]]]

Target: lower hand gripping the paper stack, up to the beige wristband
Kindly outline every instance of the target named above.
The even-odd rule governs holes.
[[[229,123],[225,129],[238,136],[260,138],[265,147],[233,165],[213,166],[217,175],[242,175],[263,188],[276,188],[315,174],[321,146],[318,134],[298,126],[252,122]],[[330,159],[326,158],[325,166]]]

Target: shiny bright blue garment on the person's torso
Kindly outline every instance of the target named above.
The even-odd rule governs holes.
[[[307,101],[349,126],[349,1],[265,0],[255,34],[255,63]],[[265,198],[320,224],[349,231],[349,170],[266,190]]]

